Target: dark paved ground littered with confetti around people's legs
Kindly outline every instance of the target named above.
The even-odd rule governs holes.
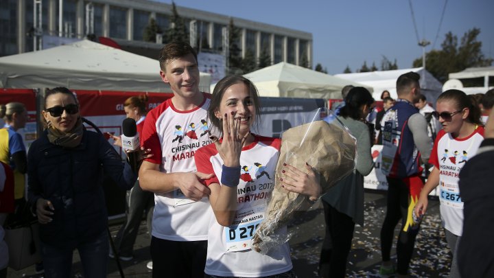
[[[423,220],[421,231],[416,240],[415,255],[410,266],[412,277],[447,277],[451,263],[451,253],[447,248],[445,233],[440,227],[439,204],[437,200],[429,202],[428,216]],[[380,264],[379,231],[386,213],[386,195],[384,192],[366,192],[365,224],[355,227],[352,250],[347,266],[348,277],[379,277]],[[294,236],[290,240],[292,261],[298,278],[318,277],[319,252],[324,238],[325,227],[322,206],[305,214],[290,226]],[[110,226],[112,235],[119,229],[118,224]],[[397,231],[395,235],[397,235]],[[151,277],[146,268],[150,260],[150,236],[141,224],[137,238],[134,260],[121,262],[125,277]],[[395,254],[393,246],[392,255]],[[73,276],[83,277],[77,252],[74,253]],[[14,271],[9,268],[8,277],[43,277],[34,274],[34,266]],[[108,277],[120,277],[115,260],[108,262]],[[90,277],[88,277],[90,278]]]

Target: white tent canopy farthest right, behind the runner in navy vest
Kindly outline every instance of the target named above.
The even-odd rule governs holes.
[[[421,92],[427,97],[427,102],[432,104],[436,103],[437,97],[442,92],[443,85],[436,79],[429,71],[423,69],[423,67],[417,67],[413,69],[396,69],[392,71],[371,71],[364,73],[342,73],[336,74],[336,77],[351,80],[353,82],[360,82],[367,86],[372,86],[374,89],[373,97],[375,100],[381,99],[381,93],[384,90],[388,90],[391,97],[397,98],[396,82],[399,76],[403,73],[410,71],[419,73],[421,76],[420,86]]]

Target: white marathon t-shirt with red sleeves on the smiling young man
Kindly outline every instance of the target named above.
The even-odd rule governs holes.
[[[147,161],[160,165],[163,173],[196,172],[196,150],[211,143],[207,132],[209,95],[191,111],[178,111],[172,99],[152,109],[143,127],[142,145],[154,154]],[[207,240],[212,216],[208,198],[193,202],[180,190],[154,194],[152,235],[163,240]]]

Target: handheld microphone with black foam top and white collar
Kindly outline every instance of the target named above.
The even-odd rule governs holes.
[[[132,171],[137,174],[141,166],[141,143],[139,141],[139,133],[137,133],[137,125],[134,119],[126,118],[122,122],[121,135],[122,149],[127,154],[128,163]]]

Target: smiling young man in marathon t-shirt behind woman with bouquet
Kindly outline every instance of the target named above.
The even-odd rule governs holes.
[[[212,211],[211,191],[201,181],[212,175],[197,172],[193,155],[211,143],[209,132],[199,129],[207,119],[209,95],[199,91],[197,54],[190,45],[168,43],[159,60],[161,79],[174,96],[145,119],[141,141],[153,156],[139,170],[142,189],[155,194],[152,276],[202,277]]]

